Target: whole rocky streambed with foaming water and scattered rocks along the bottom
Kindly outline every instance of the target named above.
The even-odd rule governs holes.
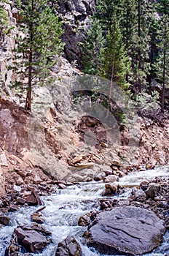
[[[159,176],[160,170],[161,176]],[[165,230],[169,229],[168,167],[157,168],[157,171],[154,170],[154,174],[156,173],[158,177],[155,178],[154,176],[150,180],[149,177],[146,179],[145,172],[148,174],[151,170],[143,171],[143,180],[136,187],[130,184],[129,177],[132,177],[133,173],[129,173],[126,176],[126,180],[127,178],[129,179],[126,184],[123,177],[119,178],[119,181],[90,181],[89,183],[76,185],[49,179],[46,186],[44,186],[44,181],[40,181],[40,179],[37,181],[38,178],[36,177],[36,181],[33,184],[27,185],[27,190],[22,188],[22,191],[17,191],[23,184],[22,186],[17,185],[15,193],[10,193],[4,198],[1,197],[1,203],[4,206],[1,208],[1,256],[4,256],[5,249],[6,255],[22,255],[22,253],[26,255],[26,252],[34,252],[35,255],[45,254],[50,256],[56,252],[56,255],[60,254],[61,256],[61,252],[63,255],[64,253],[65,255],[66,253],[67,255],[72,255],[73,251],[73,255],[80,255],[81,252],[85,256],[97,255],[97,252],[93,251],[93,249],[87,248],[86,243],[88,246],[94,246],[100,252],[114,254],[114,250],[106,248],[105,241],[101,242],[104,245],[95,246],[95,244],[86,241],[82,236],[87,238],[86,231],[89,226],[88,232],[91,238],[91,229],[97,227],[94,224],[100,218],[100,214],[106,214],[104,225],[110,226],[111,218],[109,215],[111,211],[117,211],[119,216],[120,211],[123,213],[125,211],[131,212],[130,209],[135,209],[135,221],[133,222],[133,219],[127,217],[129,221],[126,222],[126,219],[123,219],[123,226],[119,225],[119,227],[122,230],[129,228],[132,223],[138,222],[139,216],[142,216],[140,225],[148,223],[144,214],[150,210],[151,215],[147,225],[149,232],[152,234],[152,240],[155,236],[156,242],[153,242],[154,246],[146,247],[144,243],[148,241],[144,239],[143,234],[146,229],[137,226],[136,230],[138,230],[144,241],[144,250],[138,251],[137,254],[152,251],[154,247],[160,245],[162,235]],[[135,178],[137,178],[141,171],[137,171],[134,174]],[[106,176],[107,179],[111,178],[109,176]],[[104,181],[107,180],[104,179]],[[142,211],[143,214],[140,215]],[[154,219],[154,224],[151,218]],[[157,224],[158,222],[160,223],[159,225]],[[158,232],[153,225],[157,225]],[[134,226],[136,227],[135,224]],[[139,230],[142,230],[142,233]],[[123,236],[121,235],[120,233],[119,236],[122,238]],[[131,236],[127,236],[127,239],[132,240],[133,234],[130,233],[129,235]],[[67,241],[63,241],[66,236],[68,236]],[[168,233],[166,236],[168,237]],[[102,238],[103,236],[101,235],[100,237]],[[150,236],[149,239],[151,239]],[[10,240],[11,244],[9,245]],[[124,241],[127,241],[126,238],[124,238]],[[130,244],[130,242],[128,240],[127,244]],[[61,249],[57,249],[58,244]],[[126,252],[121,245],[119,246],[119,252]],[[136,255],[135,252],[127,252],[131,255]],[[162,255],[168,255],[168,252],[168,243],[165,243],[165,246],[162,247]]]

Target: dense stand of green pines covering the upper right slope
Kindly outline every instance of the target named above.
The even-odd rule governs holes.
[[[84,42],[83,70],[113,80],[131,97],[144,92],[168,109],[169,1],[96,1]],[[139,95],[139,96],[138,96]]]

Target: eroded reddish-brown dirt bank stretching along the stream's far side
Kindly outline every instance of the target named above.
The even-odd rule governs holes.
[[[38,176],[41,170],[40,173],[49,173],[54,178],[84,181],[87,177],[91,180],[103,169],[120,176],[127,170],[143,166],[151,169],[168,163],[168,116],[160,116],[158,121],[139,118],[141,137],[133,154],[127,145],[126,127],[120,130],[121,145],[109,148],[102,139],[103,127],[94,118],[79,120],[77,115],[72,123],[65,114],[62,116],[49,108],[47,117],[39,121],[14,102],[0,98],[0,104],[2,188],[7,177],[12,177],[12,170],[18,169],[34,170]],[[82,133],[90,131],[98,136],[100,144],[84,150]]]

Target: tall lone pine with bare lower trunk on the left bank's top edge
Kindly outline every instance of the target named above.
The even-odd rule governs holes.
[[[62,23],[47,6],[47,0],[16,0],[15,6],[20,10],[17,25],[23,34],[16,38],[14,69],[25,80],[19,84],[23,89],[26,86],[25,108],[31,110],[33,86],[47,83],[51,78],[50,67],[63,49]]]

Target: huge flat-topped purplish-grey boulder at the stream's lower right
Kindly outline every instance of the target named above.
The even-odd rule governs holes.
[[[87,245],[104,254],[140,255],[160,246],[165,227],[152,211],[125,206],[103,211],[90,225]]]

